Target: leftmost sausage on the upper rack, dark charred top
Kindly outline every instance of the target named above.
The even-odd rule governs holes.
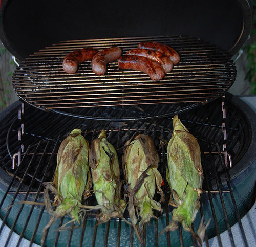
[[[63,60],[63,70],[69,74],[76,73],[78,64],[92,60],[97,52],[98,50],[91,47],[70,52]]]

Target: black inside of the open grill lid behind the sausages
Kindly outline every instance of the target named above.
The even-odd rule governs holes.
[[[230,55],[248,38],[249,0],[1,1],[0,39],[19,60],[65,40],[186,35]]]

